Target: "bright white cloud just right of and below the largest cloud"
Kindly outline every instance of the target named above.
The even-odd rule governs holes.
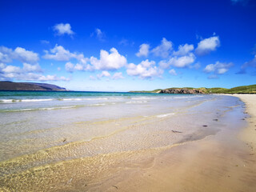
[[[130,63],[127,66],[126,73],[130,76],[138,76],[139,78],[154,78],[161,76],[163,70],[158,69],[158,67],[154,65],[155,62],[150,62],[148,59],[140,62],[138,65]]]

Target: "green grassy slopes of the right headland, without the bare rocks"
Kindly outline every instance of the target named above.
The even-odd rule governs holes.
[[[186,89],[194,89],[193,87],[184,87]],[[168,89],[182,89],[178,87],[172,87]],[[237,86],[231,89],[221,88],[221,87],[214,87],[214,88],[196,88],[197,90],[202,90],[206,94],[256,94],[256,84],[251,86]],[[130,92],[138,92],[138,93],[157,93],[158,90],[151,90],[151,91],[130,91]]]

